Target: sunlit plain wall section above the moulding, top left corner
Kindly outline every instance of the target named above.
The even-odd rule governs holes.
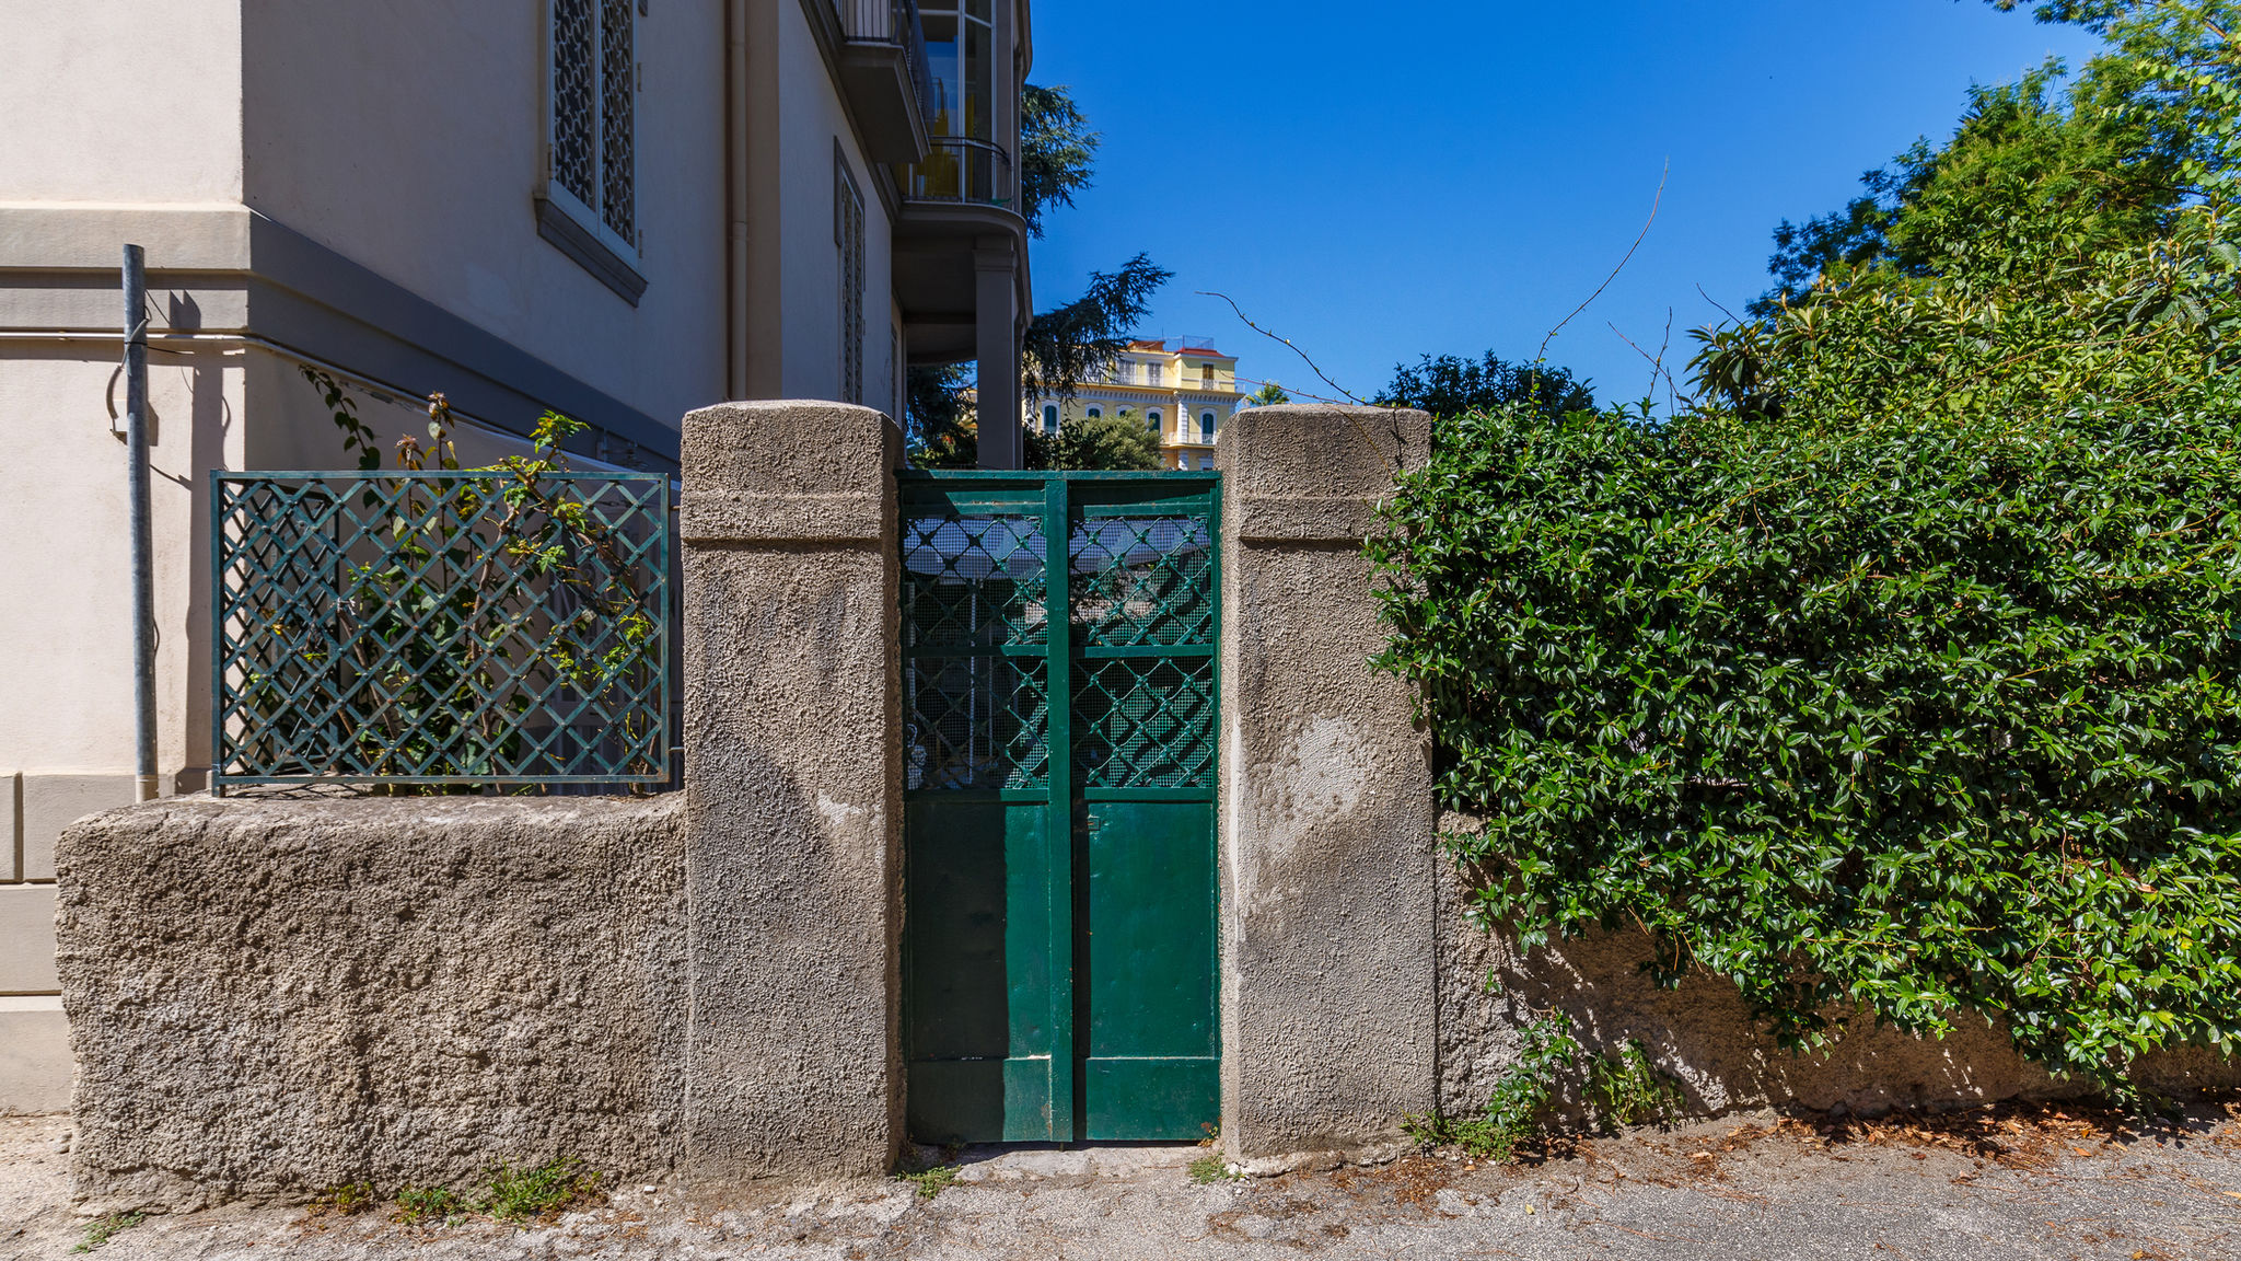
[[[0,202],[240,200],[240,0],[0,0]]]

